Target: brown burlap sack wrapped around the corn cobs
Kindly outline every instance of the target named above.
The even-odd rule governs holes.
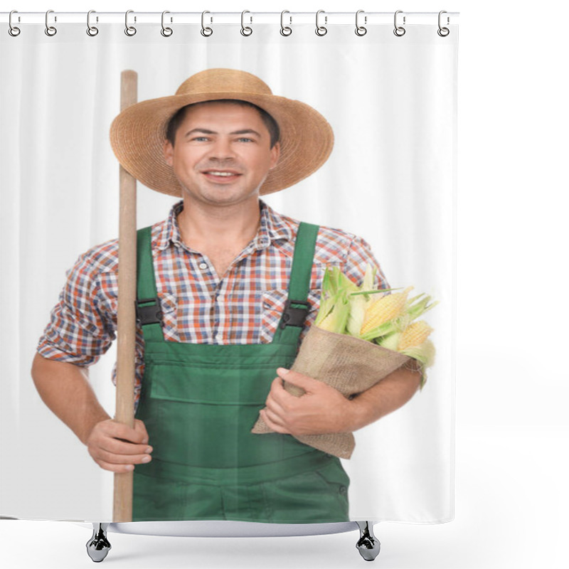
[[[409,356],[373,342],[311,326],[291,369],[324,381],[344,397],[350,398],[371,388],[404,364],[414,363],[415,360]],[[285,389],[297,397],[304,393],[303,389],[286,381]],[[262,434],[273,431],[259,418],[251,432]],[[356,446],[351,432],[300,435],[296,438],[305,445],[340,458],[350,458]]]

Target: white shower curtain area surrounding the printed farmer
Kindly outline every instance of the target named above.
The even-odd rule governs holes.
[[[273,95],[309,105],[334,133],[317,171],[262,201],[280,216],[365,243],[392,294],[413,286],[409,298],[424,293],[437,302],[420,317],[436,350],[425,385],[356,430],[351,457],[339,459],[349,477],[349,519],[452,519],[456,20],[407,14],[405,23],[395,16],[394,26],[393,14],[358,14],[356,28],[355,14],[349,21],[346,14],[314,16],[166,15],[161,25],[160,14],[146,14],[129,21],[129,33],[116,14],[100,18],[96,33],[65,18],[48,28],[26,23],[24,14],[18,33],[2,24],[3,516],[112,520],[112,473],[43,403],[32,360],[71,267],[118,235],[119,170],[109,131],[122,71],[136,71],[144,101],[174,95],[196,73],[224,69],[255,75]],[[137,226],[166,219],[178,201],[139,183]],[[324,265],[308,294],[312,321]],[[336,267],[345,267],[341,258]],[[359,286],[364,271],[362,261],[349,277]],[[271,341],[280,319],[275,307],[282,309],[285,297],[286,289],[262,290],[256,309],[264,327],[255,342]],[[180,302],[171,299],[172,311]],[[110,416],[116,358],[113,344],[89,376]]]

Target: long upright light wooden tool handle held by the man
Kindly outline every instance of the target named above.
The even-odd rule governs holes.
[[[137,73],[121,73],[120,110],[137,102]],[[119,294],[117,314],[117,405],[115,420],[134,427],[137,298],[137,181],[119,173]],[[112,521],[132,521],[132,472],[115,474]]]

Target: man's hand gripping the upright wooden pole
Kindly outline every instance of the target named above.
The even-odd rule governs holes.
[[[113,419],[97,422],[85,444],[92,459],[112,472],[130,472],[134,464],[151,460],[147,429],[138,419],[134,420],[134,429]]]

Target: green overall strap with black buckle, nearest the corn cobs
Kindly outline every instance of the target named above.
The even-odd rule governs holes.
[[[273,342],[294,346],[298,344],[304,320],[310,309],[307,301],[318,230],[319,226],[313,223],[301,222],[299,225],[294,243],[288,298]]]

